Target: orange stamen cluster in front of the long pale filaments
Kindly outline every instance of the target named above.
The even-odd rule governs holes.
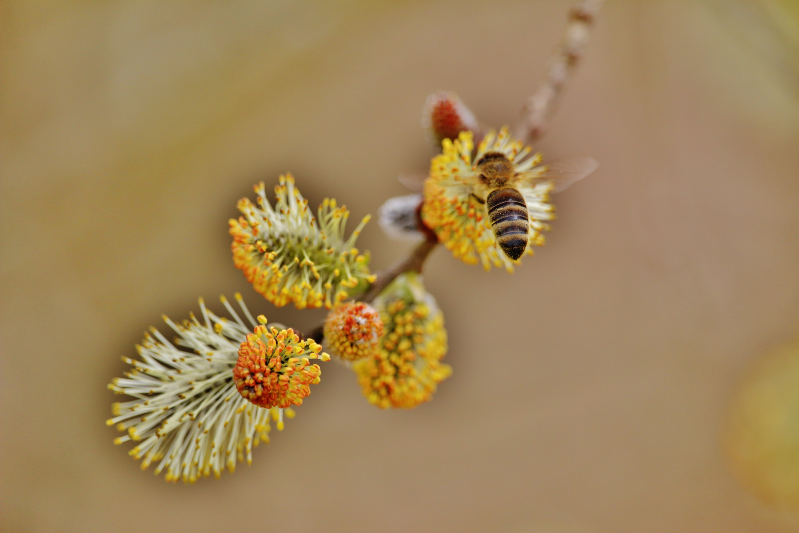
[[[259,316],[247,340],[241,343],[239,358],[233,367],[233,381],[245,400],[261,408],[288,408],[301,405],[311,394],[310,385],[321,380],[318,364],[310,359],[329,360],[313,340],[300,340],[293,329],[267,328]]]

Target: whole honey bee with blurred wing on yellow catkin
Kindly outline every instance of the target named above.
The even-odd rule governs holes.
[[[598,163],[591,157],[578,157],[546,165],[543,173],[540,169],[518,173],[513,161],[504,153],[489,152],[480,157],[475,166],[471,194],[485,205],[487,220],[499,248],[515,261],[527,249],[530,233],[527,202],[519,187],[553,181],[555,187],[551,192],[559,193],[594,172]]]

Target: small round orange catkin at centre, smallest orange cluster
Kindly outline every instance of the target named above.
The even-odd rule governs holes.
[[[377,352],[382,336],[380,313],[364,302],[338,304],[324,321],[325,345],[344,360],[371,356]]]

